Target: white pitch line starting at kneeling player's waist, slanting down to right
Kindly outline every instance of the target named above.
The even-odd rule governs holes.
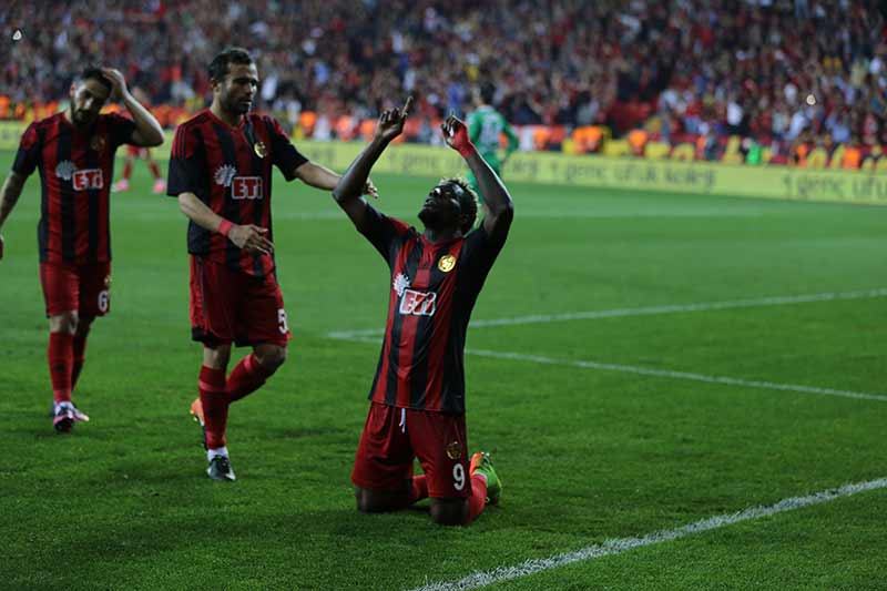
[[[638,367],[632,365],[601,364],[598,361],[582,361],[572,359],[554,359],[539,355],[524,355],[521,353],[507,353],[483,349],[466,349],[466,353],[482,357],[495,357],[497,359],[512,359],[516,361],[531,361],[544,365],[562,365],[569,367],[581,367],[584,369],[602,369],[605,371],[622,371],[625,374],[636,374],[641,376],[653,376],[672,379],[689,379],[693,381],[705,381],[708,384],[724,384],[727,386],[743,386],[747,388],[763,388],[767,390],[797,391],[802,394],[816,394],[819,396],[839,396],[842,398],[857,398],[863,400],[878,400],[887,403],[887,395],[859,393],[850,390],[836,390],[833,388],[816,388],[814,386],[802,386],[799,384],[777,384],[773,381],[759,381],[731,378],[726,376],[705,376],[702,374],[691,374],[689,371],[673,371],[670,369],[654,369],[650,367]]]

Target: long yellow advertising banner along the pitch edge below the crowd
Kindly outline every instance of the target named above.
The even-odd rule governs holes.
[[[0,122],[0,150],[16,150],[24,128],[19,122]],[[172,132],[167,132],[164,144],[153,150],[155,157],[169,157],[171,145]],[[364,149],[361,142],[300,140],[296,145],[309,159],[336,171],[344,171]],[[389,146],[374,167],[376,173],[437,177],[465,171],[461,157],[452,150],[416,144]],[[509,182],[887,205],[884,171],[518,152],[506,164],[503,174]]]

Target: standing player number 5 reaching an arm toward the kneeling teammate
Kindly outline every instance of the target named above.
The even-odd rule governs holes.
[[[166,193],[190,220],[191,335],[203,344],[191,412],[203,427],[206,473],[231,481],[228,408],[281,367],[290,338],[273,254],[272,166],[327,191],[339,175],[302,155],[277,121],[251,112],[258,70],[246,50],[222,51],[208,70],[213,103],[176,129]],[[376,193],[366,179],[360,188]],[[252,353],[226,377],[232,344]]]

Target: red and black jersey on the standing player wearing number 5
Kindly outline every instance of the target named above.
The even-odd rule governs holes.
[[[292,181],[305,162],[274,119],[249,113],[232,128],[206,109],[175,130],[166,193],[173,197],[193,193],[234,224],[267,228],[273,241],[272,165]],[[264,277],[274,272],[271,255],[254,256],[193,221],[187,227],[187,252],[247,275]]]

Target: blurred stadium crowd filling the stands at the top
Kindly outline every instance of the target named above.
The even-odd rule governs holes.
[[[155,104],[193,112],[211,94],[211,55],[239,44],[258,59],[258,108],[294,125],[310,113],[319,139],[347,139],[411,93],[412,139],[431,141],[436,120],[492,82],[516,125],[887,145],[877,0],[52,1],[16,2],[0,24],[23,33],[0,45],[0,118],[63,99],[95,58]]]

